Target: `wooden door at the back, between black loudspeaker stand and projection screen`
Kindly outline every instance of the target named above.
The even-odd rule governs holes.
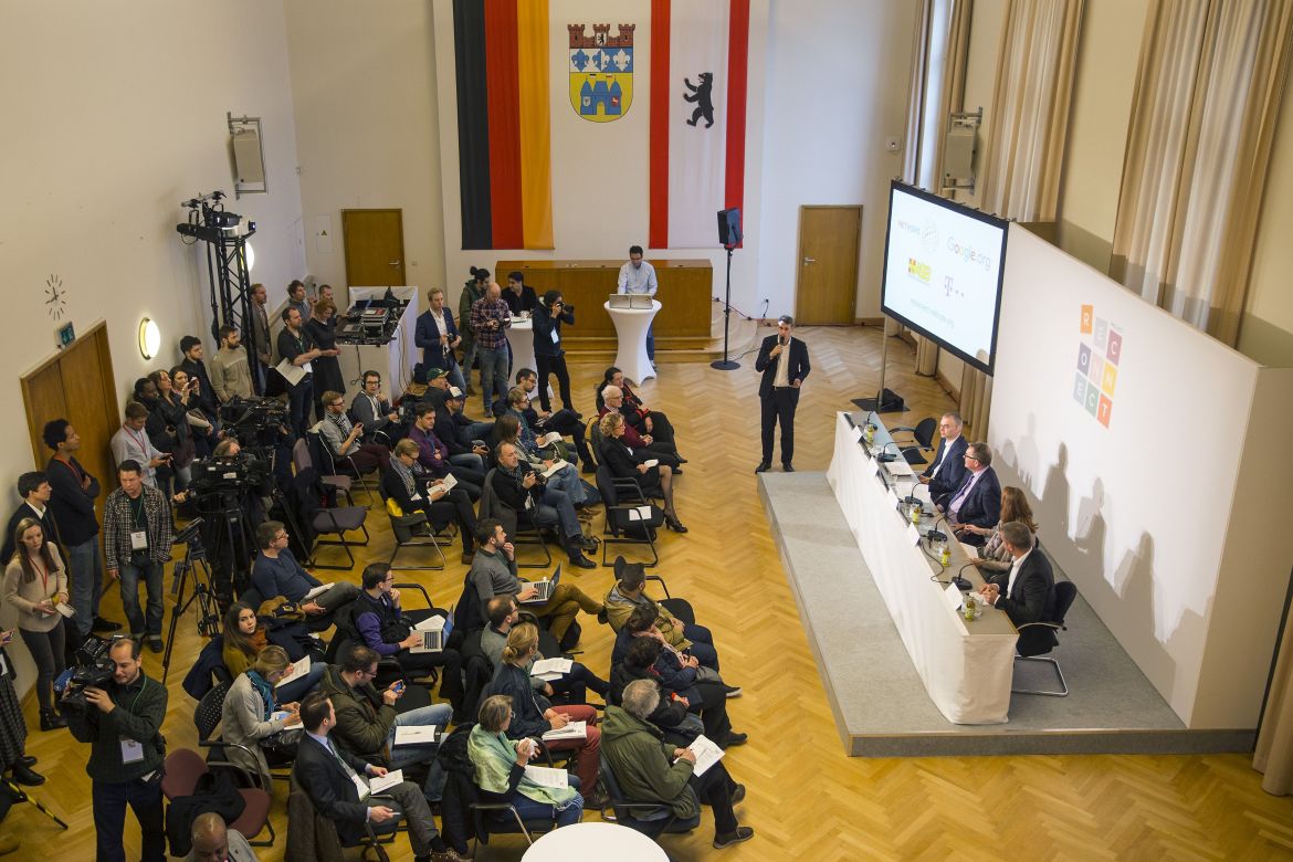
[[[851,326],[857,299],[862,208],[800,207],[795,323]]]

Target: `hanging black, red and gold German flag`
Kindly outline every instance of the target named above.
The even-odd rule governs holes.
[[[454,0],[463,248],[552,248],[548,0]]]

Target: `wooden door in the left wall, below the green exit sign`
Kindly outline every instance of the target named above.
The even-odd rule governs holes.
[[[107,443],[122,424],[112,376],[107,326],[97,324],[22,377],[32,463],[44,469],[53,452],[41,432],[52,419],[66,419],[81,438],[76,460],[98,478],[105,492],[116,486]]]

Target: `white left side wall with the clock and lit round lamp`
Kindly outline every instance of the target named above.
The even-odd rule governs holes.
[[[229,200],[259,222],[252,277],[282,299],[304,268],[296,138],[282,8],[257,0],[5,4],[0,291],[9,326],[0,340],[0,401],[21,410],[19,375],[54,350],[45,280],[69,292],[79,332],[107,322],[118,398],[178,358],[181,335],[208,339],[206,258],[181,244],[180,202],[233,190],[225,112],[261,116],[270,194]],[[230,58],[230,48],[237,59]],[[200,287],[200,289],[199,289]],[[162,328],[154,362],[138,353],[142,315]],[[17,503],[32,468],[19,421],[0,448],[0,510]],[[87,441],[106,445],[106,441]],[[30,681],[30,673],[25,675]]]

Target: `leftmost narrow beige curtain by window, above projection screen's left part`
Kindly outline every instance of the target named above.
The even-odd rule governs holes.
[[[974,0],[919,0],[919,4],[912,50],[903,178],[939,191],[948,115],[962,110],[965,100]],[[937,89],[936,101],[931,98],[935,94],[931,88]],[[930,127],[936,129],[932,146],[926,145]],[[915,373],[932,377],[939,368],[939,345],[922,335],[913,336]]]

